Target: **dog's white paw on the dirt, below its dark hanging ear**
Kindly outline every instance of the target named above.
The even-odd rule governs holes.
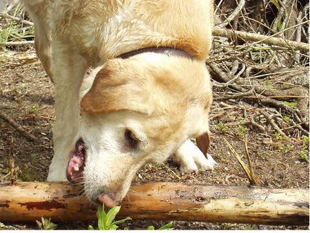
[[[213,170],[216,165],[216,161],[214,161],[210,154],[207,154],[206,158],[203,152],[190,140],[185,141],[185,143],[176,150],[173,159],[180,165],[181,172]]]

